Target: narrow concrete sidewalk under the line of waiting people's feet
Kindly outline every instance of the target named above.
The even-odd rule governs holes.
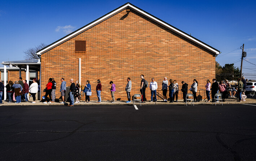
[[[77,105],[84,105],[84,106],[90,106],[90,105],[125,105],[125,104],[133,104],[133,101],[131,101],[131,103],[125,103],[126,100],[116,100],[115,103],[111,103],[110,100],[105,100],[105,101],[101,101],[101,103],[97,103],[96,100],[93,100],[91,101],[90,103],[86,103],[84,101],[81,101],[80,103],[75,103],[75,106]],[[187,102],[188,105],[191,105],[191,102]],[[234,99],[234,98],[228,98],[228,99],[225,99],[225,102],[223,102],[223,104],[243,104],[243,103],[256,103],[256,99],[252,99],[252,98],[246,98],[246,101],[242,101],[242,102],[237,102],[237,99]],[[3,101],[3,104],[0,104],[0,106],[35,106],[35,105],[42,105],[42,106],[55,106],[55,105],[63,105],[63,106],[67,106],[69,104],[69,102],[66,102],[65,104],[60,104],[59,102],[53,102],[53,103],[47,103],[47,104],[43,104],[43,102],[40,102],[39,100],[36,100],[36,103],[31,103],[31,102],[21,102],[21,103],[7,103],[5,101]],[[135,102],[136,105],[139,105],[139,102]],[[183,102],[183,100],[178,100],[178,102],[173,102],[173,103],[170,103],[169,101],[168,102],[162,102],[161,101],[157,101],[157,102],[149,102],[149,101],[146,101],[145,103],[142,103],[142,105],[164,105],[164,104],[169,104],[169,105],[172,105],[172,104],[182,104],[184,105],[185,103]],[[205,102],[203,100],[201,100],[200,102],[195,102],[194,103],[195,105],[196,104],[212,104],[212,102]],[[215,104],[215,103],[214,103]],[[218,103],[216,103],[218,104]],[[221,103],[220,103],[221,104]]]

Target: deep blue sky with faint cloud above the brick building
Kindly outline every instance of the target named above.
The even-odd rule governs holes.
[[[40,43],[51,44],[127,2],[220,50],[216,61],[222,66],[235,63],[240,67],[239,47],[243,44],[246,60],[256,64],[256,1],[253,0],[3,0],[0,62],[23,60],[26,49]],[[243,73],[256,80],[253,64],[243,61]]]

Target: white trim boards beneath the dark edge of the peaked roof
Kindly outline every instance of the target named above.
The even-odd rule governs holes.
[[[129,8],[131,8],[131,9],[135,10],[136,12],[138,12],[138,13],[140,13],[140,14],[146,16],[146,17],[148,17],[149,19],[152,19],[153,21],[155,21],[155,22],[161,24],[162,26],[165,26],[166,28],[168,28],[168,29],[170,29],[170,30],[172,30],[172,31],[174,31],[174,32],[176,32],[176,33],[178,33],[179,35],[181,35],[181,36],[183,36],[183,37],[186,37],[187,39],[193,41],[194,43],[196,43],[196,44],[198,44],[198,45],[200,45],[200,46],[202,46],[203,48],[210,50],[210,51],[213,52],[214,54],[216,54],[216,55],[220,54],[220,52],[218,52],[217,50],[215,50],[215,49],[213,49],[213,48],[211,48],[211,47],[209,47],[209,46],[207,46],[207,45],[201,43],[200,41],[194,39],[194,38],[191,37],[191,36],[186,35],[185,33],[183,33],[183,32],[181,32],[181,31],[177,30],[176,28],[170,26],[169,24],[166,24],[165,22],[160,21],[159,19],[157,19],[157,18],[155,18],[155,17],[149,15],[148,13],[144,12],[143,10],[140,10],[139,8],[136,8],[135,6],[133,6],[133,5],[129,4],[129,3],[126,4],[126,5],[124,5],[124,6],[122,6],[121,8],[118,8],[118,9],[114,10],[113,12],[111,12],[111,13],[105,15],[104,17],[102,17],[102,18],[98,19],[97,21],[91,23],[90,25],[88,25],[88,26],[82,28],[81,30],[78,30],[77,32],[74,32],[73,34],[69,35],[68,37],[65,37],[64,39],[61,39],[60,41],[57,41],[56,43],[52,44],[51,46],[48,46],[47,48],[41,50],[40,52],[38,52],[38,53],[36,53],[36,54],[37,54],[37,55],[42,55],[43,53],[45,53],[45,52],[47,52],[48,50],[54,48],[55,46],[60,45],[61,43],[64,43],[65,41],[67,41],[67,40],[71,39],[72,37],[78,35],[79,33],[82,33],[82,32],[84,32],[84,31],[88,30],[89,28],[95,26],[96,24],[98,24],[98,23],[100,23],[100,22],[102,22],[102,21],[105,21],[105,19],[108,19],[109,17],[112,17],[113,15],[115,15],[115,14],[121,12],[123,9],[125,9],[125,8],[127,8],[127,7],[129,7]]]

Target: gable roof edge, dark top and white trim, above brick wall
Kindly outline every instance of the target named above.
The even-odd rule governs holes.
[[[51,50],[52,48],[55,48],[56,46],[64,43],[65,41],[67,41],[67,40],[69,40],[69,39],[71,39],[71,38],[73,38],[73,37],[75,37],[77,35],[79,35],[80,33],[82,33],[84,31],[88,30],[89,28],[97,25],[98,23],[105,21],[106,19],[112,17],[113,15],[121,12],[122,10],[124,10],[126,8],[130,8],[130,9],[135,10],[136,12],[144,15],[145,17],[151,19],[152,21],[155,21],[155,22],[159,23],[160,25],[168,28],[169,30],[172,30],[173,32],[175,32],[175,33],[177,33],[177,34],[187,38],[188,40],[191,40],[194,43],[202,46],[203,48],[213,52],[215,55],[218,55],[218,54],[221,53],[219,50],[213,48],[212,46],[205,44],[204,42],[196,39],[195,37],[188,35],[187,33],[179,30],[178,28],[176,28],[176,27],[174,27],[174,26],[172,26],[172,25],[162,21],[161,19],[159,19],[159,18],[157,18],[157,17],[147,13],[146,11],[144,11],[144,10],[142,10],[142,9],[140,9],[140,8],[136,7],[135,5],[133,5],[133,4],[128,2],[128,3],[118,7],[117,9],[114,9],[113,11],[103,15],[102,17],[96,19],[95,21],[93,21],[91,23],[88,23],[87,25],[85,25],[85,26],[79,28],[78,30],[70,33],[69,35],[66,35],[65,37],[62,37],[61,39],[55,41],[54,43],[52,43],[52,44],[50,44],[48,46],[46,46],[45,48],[37,51],[36,54],[37,55],[42,55],[43,53],[47,52],[48,50]]]

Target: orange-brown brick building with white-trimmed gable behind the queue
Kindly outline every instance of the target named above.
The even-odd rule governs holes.
[[[215,57],[220,51],[126,3],[95,21],[79,28],[37,52],[41,55],[41,86],[49,77],[90,80],[92,100],[96,100],[96,80],[102,84],[101,98],[111,100],[109,82],[116,84],[116,99],[126,100],[127,77],[131,78],[131,95],[140,93],[140,75],[150,82],[154,77],[161,90],[164,77],[186,81],[193,79],[205,89],[207,79],[215,77]],[[81,60],[81,64],[79,63]],[[41,88],[41,97],[44,95]],[[146,89],[149,100],[150,89]]]

